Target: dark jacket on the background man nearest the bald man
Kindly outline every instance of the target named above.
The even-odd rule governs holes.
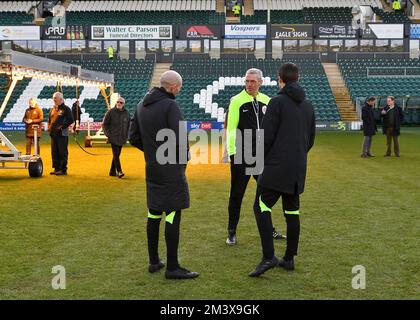
[[[123,108],[117,107],[109,109],[105,114],[102,128],[111,144],[123,146],[128,139],[128,129],[130,127],[130,113]]]

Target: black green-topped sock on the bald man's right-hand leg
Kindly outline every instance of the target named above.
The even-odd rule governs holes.
[[[168,213],[167,213],[168,214]],[[167,216],[168,218],[168,216]],[[178,263],[178,244],[179,244],[179,227],[181,223],[181,211],[176,211],[172,223],[166,221],[165,224],[165,240],[167,250],[167,269],[174,271],[179,268]]]

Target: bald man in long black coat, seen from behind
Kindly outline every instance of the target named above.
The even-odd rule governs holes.
[[[162,74],[160,83],[161,87],[153,88],[137,106],[129,137],[130,143],[144,152],[146,162],[149,272],[154,273],[165,266],[158,254],[159,225],[165,213],[165,277],[191,279],[198,273],[188,271],[178,263],[181,210],[190,206],[185,176],[188,138],[181,109],[175,100],[181,91],[182,78],[175,71],[167,71]],[[165,146],[169,151],[168,159],[163,159],[162,147]]]

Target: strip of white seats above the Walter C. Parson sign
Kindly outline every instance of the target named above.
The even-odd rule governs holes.
[[[216,10],[216,0],[72,1],[69,12],[85,11],[200,11]]]

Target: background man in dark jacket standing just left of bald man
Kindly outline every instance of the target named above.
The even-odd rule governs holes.
[[[114,108],[108,110],[105,114],[102,128],[108,137],[112,147],[112,163],[109,170],[110,176],[124,177],[121,169],[120,155],[123,145],[128,139],[128,129],[130,127],[130,113],[124,107],[125,99],[119,97]]]

